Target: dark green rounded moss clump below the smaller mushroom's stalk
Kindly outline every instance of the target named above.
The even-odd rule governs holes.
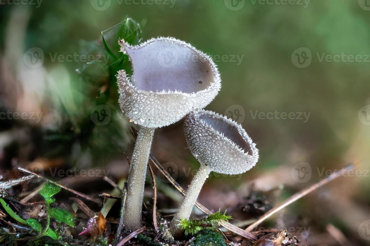
[[[226,246],[221,233],[213,228],[204,228],[196,234],[191,246]]]

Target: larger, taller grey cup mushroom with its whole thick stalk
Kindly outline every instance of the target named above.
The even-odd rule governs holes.
[[[179,121],[208,105],[221,88],[216,65],[205,53],[174,38],[155,38],[131,46],[120,40],[133,74],[117,75],[122,111],[141,126],[128,176],[124,225],[141,227],[144,181],[154,129]]]

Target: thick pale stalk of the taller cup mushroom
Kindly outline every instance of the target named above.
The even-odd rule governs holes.
[[[132,231],[141,228],[144,183],[153,134],[154,128],[141,127],[129,167],[123,224]]]

